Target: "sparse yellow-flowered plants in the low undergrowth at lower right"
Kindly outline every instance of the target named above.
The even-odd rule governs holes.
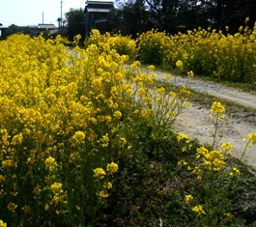
[[[225,117],[225,107],[214,101],[211,116],[215,120],[213,145],[201,146],[197,148],[194,159],[181,159],[178,162],[179,169],[190,176],[190,184],[185,188],[184,202],[185,208],[194,216],[194,223],[198,226],[217,226],[220,223],[228,225],[235,220],[230,192],[242,175],[240,169],[228,161],[232,156],[232,145],[225,142],[218,146],[215,140],[218,122]],[[247,144],[242,156],[247,148],[256,143],[255,138],[255,134],[248,134],[244,139]],[[187,136],[181,133],[177,140],[185,145],[182,152],[188,152],[190,141]]]

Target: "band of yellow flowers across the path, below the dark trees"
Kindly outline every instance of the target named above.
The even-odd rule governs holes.
[[[143,33],[137,39],[139,59],[144,64],[176,69],[184,63],[183,71],[197,75],[213,75],[236,82],[256,82],[256,23],[253,29],[241,26],[238,33],[198,28],[169,35],[157,30]]]

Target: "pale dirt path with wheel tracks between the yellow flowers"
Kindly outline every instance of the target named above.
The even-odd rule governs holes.
[[[164,72],[151,71],[149,73],[156,73],[157,78],[160,80],[165,79],[166,73]],[[185,78],[175,76],[171,83],[184,85],[185,81]],[[190,79],[188,88],[203,94],[213,95],[216,98],[229,99],[243,106],[256,109],[256,93],[244,93],[238,89],[214,82],[205,82],[196,78]],[[177,132],[185,133],[189,138],[197,139],[201,144],[213,144],[214,127],[210,114],[209,108],[198,102],[190,102],[190,106],[185,108],[184,113],[178,117],[174,129]],[[248,133],[256,133],[256,121],[255,118],[250,118],[248,114],[244,114],[242,111],[238,115],[241,117],[232,118],[228,113],[226,114],[219,128],[218,144],[230,142],[233,145],[233,156],[240,158],[246,144],[242,139],[247,137]],[[242,160],[256,168],[256,146],[247,150]]]

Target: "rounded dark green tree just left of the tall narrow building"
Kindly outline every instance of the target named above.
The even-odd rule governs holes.
[[[68,22],[67,36],[70,41],[73,40],[74,36],[80,34],[81,41],[85,39],[85,15],[83,9],[71,9],[70,12],[66,14]]]

